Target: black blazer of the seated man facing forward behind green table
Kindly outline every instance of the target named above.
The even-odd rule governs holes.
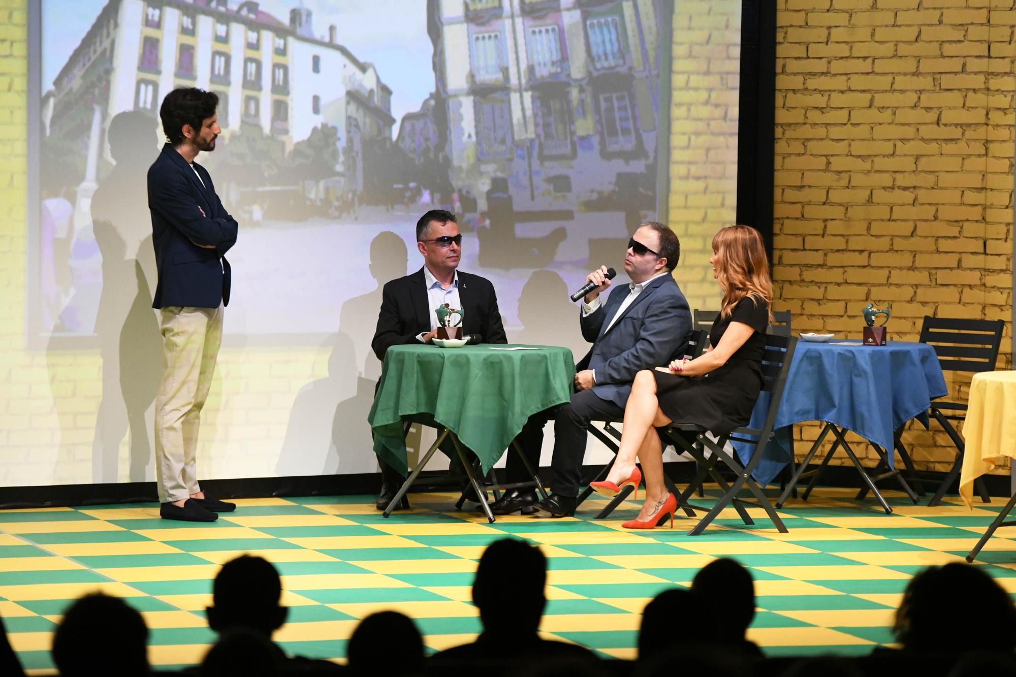
[[[458,300],[465,313],[462,335],[479,333],[485,344],[507,344],[494,285],[487,278],[457,272]],[[419,343],[417,336],[431,330],[435,310],[428,307],[423,268],[387,283],[381,291],[381,311],[371,341],[374,354],[384,362],[384,354],[392,346]]]

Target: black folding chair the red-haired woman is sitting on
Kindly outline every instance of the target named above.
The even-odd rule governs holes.
[[[761,429],[748,427],[736,428],[729,433],[718,435],[715,441],[706,435],[709,431],[705,427],[695,424],[672,425],[664,429],[663,434],[666,439],[673,442],[676,448],[687,451],[700,466],[698,475],[688,485],[688,488],[678,496],[678,505],[685,509],[686,512],[689,510],[706,511],[706,515],[699,520],[692,531],[688,532],[689,536],[698,536],[701,534],[727,505],[732,504],[746,525],[754,525],[755,522],[749,516],[745,506],[760,507],[772,519],[778,532],[781,534],[786,533],[783,520],[780,519],[776,513],[776,509],[766,497],[765,491],[755,478],[752,477],[752,474],[762,459],[762,453],[766,444],[773,437],[776,412],[783,397],[786,374],[790,369],[790,362],[793,359],[793,351],[797,345],[798,340],[793,336],[766,334],[766,349],[762,361],[762,373],[765,376],[765,382],[762,389],[770,392],[772,398],[769,402],[769,409],[766,412],[765,424]],[[681,434],[682,432],[694,433],[695,437],[693,440],[689,440],[685,435]],[[753,439],[753,437],[756,439]],[[742,466],[737,454],[728,453],[723,448],[728,441],[745,442],[752,446],[751,457],[747,465]],[[710,451],[708,457],[705,455],[706,449]],[[726,480],[719,474],[717,465],[720,463],[734,472],[733,483],[727,484]],[[713,481],[719,485],[723,495],[711,508],[688,503],[688,499],[696,489],[702,486],[707,477],[712,477]],[[755,497],[755,500],[750,501],[738,498],[738,494],[743,489],[748,489]]]

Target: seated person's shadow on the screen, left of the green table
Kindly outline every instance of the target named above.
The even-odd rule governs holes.
[[[371,242],[369,269],[377,288],[342,304],[338,333],[325,344],[332,347],[328,376],[302,387],[294,399],[275,468],[278,475],[307,475],[308,466],[317,463],[311,459],[321,454],[323,474],[333,474],[343,466],[353,472],[373,470],[367,415],[381,363],[371,350],[371,340],[381,308],[381,290],[405,274],[407,260],[405,241],[397,234],[385,231]]]

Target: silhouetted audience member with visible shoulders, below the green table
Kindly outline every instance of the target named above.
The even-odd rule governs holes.
[[[599,659],[589,650],[536,633],[547,606],[547,557],[520,539],[495,541],[480,558],[472,603],[484,631],[470,644],[454,647],[429,660],[437,665],[467,663],[478,674],[595,674]],[[450,666],[449,666],[450,667]],[[553,670],[558,667],[558,670]]]

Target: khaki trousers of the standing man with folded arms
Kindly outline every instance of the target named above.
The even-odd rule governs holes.
[[[165,371],[155,393],[155,479],[162,503],[201,491],[195,459],[201,408],[223,343],[223,306],[162,310]]]

